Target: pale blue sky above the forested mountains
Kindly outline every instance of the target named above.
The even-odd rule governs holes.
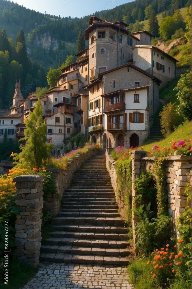
[[[94,14],[96,11],[109,10],[131,0],[13,0],[13,2],[55,16],[83,17]]]

